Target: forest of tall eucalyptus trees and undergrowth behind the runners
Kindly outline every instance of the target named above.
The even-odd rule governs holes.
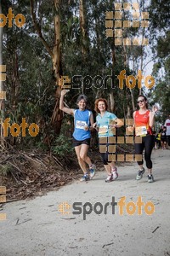
[[[22,27],[16,26],[13,20],[12,27],[8,27],[7,22],[0,28],[0,65],[6,65],[6,81],[0,81],[0,90],[6,91],[6,100],[0,100],[1,124],[10,118],[11,125],[20,125],[22,118],[26,118],[29,125],[39,126],[36,137],[31,137],[28,131],[26,137],[22,137],[21,132],[18,137],[9,132],[8,137],[4,137],[1,125],[0,184],[7,185],[11,200],[15,198],[12,192],[26,197],[34,194],[33,184],[40,191],[43,186],[62,185],[75,175],[71,172],[71,167],[77,168],[71,147],[73,119],[59,110],[62,76],[94,79],[97,75],[102,78],[113,75],[107,89],[94,84],[88,88],[88,80],[83,79],[82,86],[71,89],[65,97],[65,105],[70,108],[77,108],[77,96],[84,93],[93,112],[95,99],[104,97],[111,112],[122,119],[132,118],[137,97],[143,93],[149,99],[150,108],[155,102],[159,104],[155,129],[167,119],[170,113],[170,1],[136,1],[140,11],[149,12],[149,27],[123,29],[123,38],[148,38],[147,46],[115,45],[114,34],[106,37],[105,12],[114,11],[114,3],[119,2],[0,1],[1,14],[7,16],[8,9],[12,8],[15,16],[26,17]],[[130,19],[125,10],[123,19]],[[119,88],[115,78],[122,70],[126,70],[127,76],[136,77],[139,70],[144,74],[150,63],[153,63],[150,75],[155,79],[153,88],[146,90],[143,84],[141,90],[138,86],[131,90],[125,80],[123,89]],[[99,154],[95,132],[91,148],[93,154]]]

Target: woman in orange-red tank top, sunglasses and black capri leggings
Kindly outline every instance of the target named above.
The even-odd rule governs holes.
[[[154,106],[152,111],[148,110],[148,102],[145,96],[140,95],[138,97],[139,110],[134,111],[134,129],[135,129],[135,154],[139,154],[140,158],[137,162],[139,165],[139,172],[136,179],[139,180],[143,177],[145,172],[142,159],[144,151],[144,160],[146,161],[146,167],[148,168],[148,182],[154,181],[152,175],[152,161],[150,159],[152,148],[154,147],[154,136],[152,135],[152,126],[154,125],[154,116],[158,108]]]

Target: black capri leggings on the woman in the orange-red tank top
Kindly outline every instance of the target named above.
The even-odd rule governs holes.
[[[146,161],[146,167],[148,169],[152,168],[152,161],[150,157],[151,157],[151,151],[153,147],[154,147],[154,136],[152,135],[147,135],[145,137],[142,137],[142,143],[134,144],[135,154],[142,154],[143,150],[145,149],[144,160]],[[143,165],[144,161],[143,160],[137,161],[137,163],[139,166],[141,166]]]

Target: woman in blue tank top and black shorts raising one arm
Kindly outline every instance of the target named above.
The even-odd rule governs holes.
[[[77,154],[79,166],[83,172],[81,181],[87,181],[94,177],[96,169],[88,157],[88,148],[91,137],[90,126],[94,125],[94,116],[91,111],[86,109],[88,99],[87,96],[84,95],[77,98],[78,109],[65,108],[64,96],[66,92],[67,90],[61,90],[59,109],[74,116],[75,129],[73,132],[73,145]],[[89,174],[87,171],[87,164],[89,166]]]

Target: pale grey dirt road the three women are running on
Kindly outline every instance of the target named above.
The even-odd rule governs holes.
[[[75,181],[48,195],[6,204],[0,255],[169,256],[170,150],[154,150],[152,160],[155,183],[147,182],[146,173],[136,181],[138,167],[132,163],[119,167],[112,183],[105,183],[103,171],[88,183]],[[114,207],[114,200],[125,204]]]

